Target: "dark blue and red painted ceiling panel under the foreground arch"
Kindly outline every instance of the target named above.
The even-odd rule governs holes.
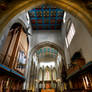
[[[33,30],[61,29],[64,11],[50,5],[42,5],[29,10]]]

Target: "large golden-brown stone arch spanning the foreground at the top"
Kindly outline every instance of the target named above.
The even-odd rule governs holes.
[[[82,4],[81,4],[81,3]],[[65,11],[68,11],[70,14],[78,18],[88,29],[89,33],[92,35],[92,17],[89,11],[87,10],[86,6],[84,5],[83,1],[80,0],[80,2],[70,1],[70,0],[20,0],[15,2],[11,2],[10,8],[7,9],[5,12],[2,13],[0,16],[0,29],[1,31],[3,28],[7,25],[7,23],[19,12],[25,10],[28,11],[29,9],[32,9],[33,7],[36,7],[38,5],[42,4],[51,4],[55,5],[59,8],[64,9]]]

